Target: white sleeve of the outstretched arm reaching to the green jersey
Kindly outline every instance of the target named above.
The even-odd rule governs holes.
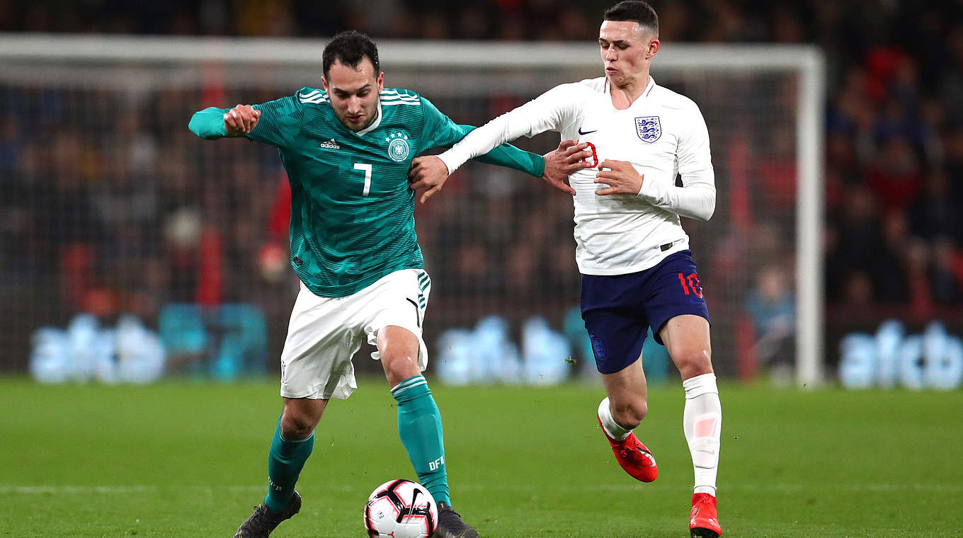
[[[438,157],[452,173],[469,159],[491,151],[506,141],[523,135],[533,137],[544,131],[560,131],[572,112],[572,99],[565,93],[573,86],[564,84],[548,90],[534,100],[492,119]]]

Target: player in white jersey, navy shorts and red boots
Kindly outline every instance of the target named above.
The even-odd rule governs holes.
[[[698,107],[658,86],[649,66],[659,21],[645,2],[609,9],[599,30],[605,76],[564,84],[501,115],[437,157],[416,159],[424,202],[469,158],[522,135],[558,131],[585,167],[555,186],[574,194],[582,316],[608,397],[598,421],[623,469],[652,481],[658,467],[633,433],[647,412],[641,349],[649,326],[682,374],[683,430],[695,474],[693,537],[721,534],[716,470],[722,411],[711,361],[709,312],[679,217],[716,206],[709,133]],[[675,179],[682,176],[683,187]]]

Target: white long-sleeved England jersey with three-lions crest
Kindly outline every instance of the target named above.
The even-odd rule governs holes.
[[[679,216],[708,219],[716,206],[709,132],[688,97],[648,87],[625,110],[612,106],[605,77],[563,84],[473,131],[439,157],[450,171],[504,141],[558,131],[588,142],[591,168],[569,177],[575,195],[576,260],[583,274],[649,269],[689,247]],[[599,163],[627,161],[644,175],[641,191],[599,195]],[[682,175],[684,187],[675,186]]]

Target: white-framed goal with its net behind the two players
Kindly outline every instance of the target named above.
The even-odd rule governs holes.
[[[227,360],[225,346],[242,346],[255,370],[273,364],[298,290],[287,269],[283,169],[271,147],[201,141],[187,124],[207,106],[320,87],[323,48],[296,39],[0,38],[0,369],[26,368],[39,327],[66,327],[83,312],[104,327],[137,316],[160,330],[169,360],[180,352],[216,363]],[[601,74],[592,43],[379,48],[386,87],[418,91],[474,125]],[[771,366],[820,380],[821,63],[809,47],[664,43],[652,67],[709,126],[716,214],[683,225],[722,373]],[[558,141],[545,134],[517,145],[544,153]],[[416,222],[432,276],[433,356],[451,350],[435,346],[496,327],[502,341],[492,349],[514,344],[524,355],[539,346],[568,363],[590,361],[574,314],[565,194],[469,164],[417,207]],[[247,310],[211,314],[219,305]],[[532,327],[568,347],[534,339]]]

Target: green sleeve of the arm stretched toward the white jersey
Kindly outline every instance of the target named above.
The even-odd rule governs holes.
[[[426,147],[448,147],[476,129],[472,125],[455,124],[447,115],[441,114],[428,99],[421,99],[425,114],[424,133],[429,137]],[[541,176],[545,171],[545,159],[541,155],[523,151],[508,143],[499,142],[472,157],[486,165],[508,167],[535,177]]]

